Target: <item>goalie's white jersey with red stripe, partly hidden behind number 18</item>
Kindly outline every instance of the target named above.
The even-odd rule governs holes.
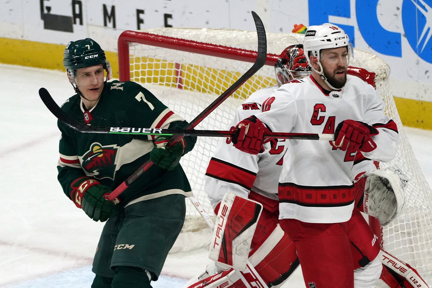
[[[266,100],[278,86],[258,90],[238,107],[232,126],[266,109]],[[278,141],[269,153],[250,155],[236,149],[230,139],[222,139],[210,160],[205,177],[205,190],[213,208],[223,196],[231,192],[248,198],[254,191],[267,198],[277,200],[277,186],[282,171],[286,141]]]

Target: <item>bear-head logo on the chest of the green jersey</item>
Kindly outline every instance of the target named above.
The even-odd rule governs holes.
[[[83,155],[83,169],[96,179],[110,178],[114,180],[117,145],[102,146],[92,143],[90,150]]]

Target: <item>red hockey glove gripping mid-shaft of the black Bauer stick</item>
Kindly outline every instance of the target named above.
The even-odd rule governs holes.
[[[255,116],[240,121],[235,126],[232,143],[238,150],[249,154],[264,152],[264,132],[269,129]]]

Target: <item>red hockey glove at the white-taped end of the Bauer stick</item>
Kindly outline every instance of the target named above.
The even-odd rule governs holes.
[[[371,152],[376,144],[371,136],[377,135],[378,130],[371,125],[354,120],[345,120],[337,125],[334,131],[334,147],[340,147],[342,151]]]

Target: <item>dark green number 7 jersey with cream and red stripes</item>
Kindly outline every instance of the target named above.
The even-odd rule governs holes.
[[[184,129],[187,125],[156,96],[130,81],[105,83],[97,104],[88,111],[78,94],[70,97],[62,109],[77,122],[92,126]],[[154,135],[81,133],[61,121],[57,125],[61,131],[57,178],[69,198],[71,183],[83,176],[98,179],[114,190],[149,160],[154,147]],[[194,147],[196,137],[184,139],[187,153]],[[129,202],[145,195],[154,198],[168,194],[192,195],[180,165],[172,171],[152,165],[119,199]]]

